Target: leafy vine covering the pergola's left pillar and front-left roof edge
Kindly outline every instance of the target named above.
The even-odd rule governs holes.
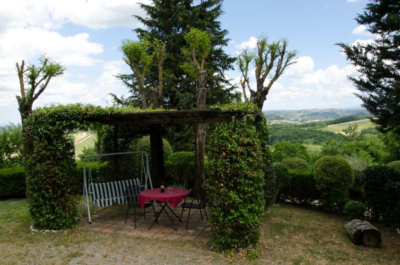
[[[76,128],[87,130],[91,117],[137,111],[143,110],[70,104],[36,108],[24,120],[27,141],[34,146],[32,156],[25,158],[29,211],[34,221],[51,229],[74,227],[77,201],[71,174],[76,162],[70,133]]]

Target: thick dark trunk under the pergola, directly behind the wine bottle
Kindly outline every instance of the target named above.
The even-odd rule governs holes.
[[[164,149],[162,145],[161,126],[150,125],[151,179],[153,188],[160,187],[160,180],[165,182]],[[169,183],[171,184],[171,183]]]

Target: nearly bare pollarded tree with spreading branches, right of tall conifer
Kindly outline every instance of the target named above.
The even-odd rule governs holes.
[[[243,90],[245,89],[245,84],[247,84],[250,91],[250,101],[256,104],[260,110],[264,105],[272,84],[282,75],[287,66],[296,63],[297,51],[288,51],[287,46],[288,40],[286,39],[268,42],[267,36],[261,34],[258,37],[254,52],[249,52],[248,48],[246,48],[238,55],[238,66],[240,72],[242,72],[240,84]],[[250,88],[249,85],[248,71],[251,62],[256,67],[256,91]],[[267,77],[269,81],[265,86],[264,82]],[[247,100],[245,92],[244,96],[245,100]]]

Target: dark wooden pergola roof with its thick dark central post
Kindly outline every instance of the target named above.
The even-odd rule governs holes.
[[[243,120],[248,113],[241,110],[166,110],[166,111],[145,111],[120,114],[104,114],[89,118],[88,121],[100,122],[106,125],[148,125],[150,128],[150,149],[151,149],[151,175],[153,184],[158,185],[160,179],[165,179],[164,171],[164,151],[162,146],[161,124],[190,124],[190,123],[218,123],[229,122],[232,120]],[[257,116],[259,113],[252,113]],[[115,127],[114,127],[115,128]],[[198,157],[196,161],[203,165],[203,169],[196,170],[195,178],[204,180],[204,155]],[[195,182],[196,183],[196,182]],[[199,182],[198,182],[199,183]]]

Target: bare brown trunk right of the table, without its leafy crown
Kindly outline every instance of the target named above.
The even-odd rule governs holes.
[[[197,93],[197,109],[206,108],[207,89],[204,87],[198,88]],[[196,139],[194,147],[194,193],[200,196],[202,193],[202,185],[206,180],[206,172],[204,169],[204,154],[206,150],[206,124],[198,123],[196,125]]]

